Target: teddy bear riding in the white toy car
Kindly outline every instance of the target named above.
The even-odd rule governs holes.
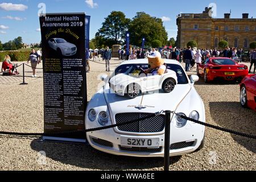
[[[166,65],[164,64],[164,60],[161,59],[161,55],[159,52],[155,52],[151,56],[147,56],[148,64],[150,68],[147,69],[147,74],[152,75],[163,75],[166,73]]]

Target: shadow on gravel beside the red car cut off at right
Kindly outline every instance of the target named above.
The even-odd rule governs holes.
[[[210,102],[210,114],[213,120],[226,129],[256,135],[256,113],[244,109],[240,102]],[[232,134],[232,138],[254,153],[256,153],[256,140]]]

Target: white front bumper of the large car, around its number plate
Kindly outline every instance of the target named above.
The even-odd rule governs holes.
[[[86,121],[86,128],[96,127],[93,122]],[[204,126],[189,122],[183,128],[177,128],[171,122],[170,156],[185,155],[199,148],[204,139]],[[90,145],[96,150],[113,155],[134,157],[164,157],[164,130],[159,134],[122,134],[117,128],[87,133]],[[147,139],[159,138],[159,148],[122,146],[121,137]]]

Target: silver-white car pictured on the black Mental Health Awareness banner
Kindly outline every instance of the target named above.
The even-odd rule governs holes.
[[[48,41],[49,47],[63,56],[73,56],[77,52],[75,44],[68,43],[65,39],[52,38]]]

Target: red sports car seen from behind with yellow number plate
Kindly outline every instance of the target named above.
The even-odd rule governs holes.
[[[204,77],[205,83],[218,78],[241,82],[248,73],[246,65],[226,57],[210,57],[197,67],[197,75]]]

